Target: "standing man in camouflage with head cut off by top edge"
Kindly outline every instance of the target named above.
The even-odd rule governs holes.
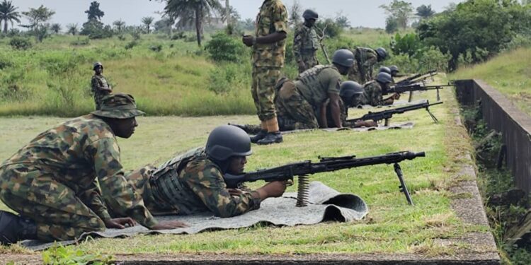
[[[242,38],[245,45],[253,47],[251,94],[261,121],[261,131],[251,138],[253,143],[282,142],[273,98],[275,83],[284,66],[286,36],[287,11],[284,4],[280,0],[264,0],[256,17],[255,35]]]

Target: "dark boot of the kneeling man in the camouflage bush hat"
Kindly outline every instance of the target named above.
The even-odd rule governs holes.
[[[0,244],[11,245],[19,240],[37,239],[37,225],[29,218],[0,211]]]

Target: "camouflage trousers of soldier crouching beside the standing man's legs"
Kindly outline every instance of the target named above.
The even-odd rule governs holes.
[[[280,131],[319,128],[314,107],[302,97],[293,81],[287,81],[275,98]]]

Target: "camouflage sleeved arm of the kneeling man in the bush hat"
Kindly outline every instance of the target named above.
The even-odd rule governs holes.
[[[100,182],[105,202],[113,211],[135,219],[147,228],[158,224],[152,213],[144,206],[142,194],[127,183],[120,163],[120,148],[114,138],[98,139],[89,146],[94,161],[94,170]]]

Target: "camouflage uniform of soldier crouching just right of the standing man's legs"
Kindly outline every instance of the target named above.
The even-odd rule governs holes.
[[[317,117],[329,93],[339,95],[341,73],[333,65],[318,65],[304,71],[297,81],[287,81],[275,98],[281,131],[319,128]]]

